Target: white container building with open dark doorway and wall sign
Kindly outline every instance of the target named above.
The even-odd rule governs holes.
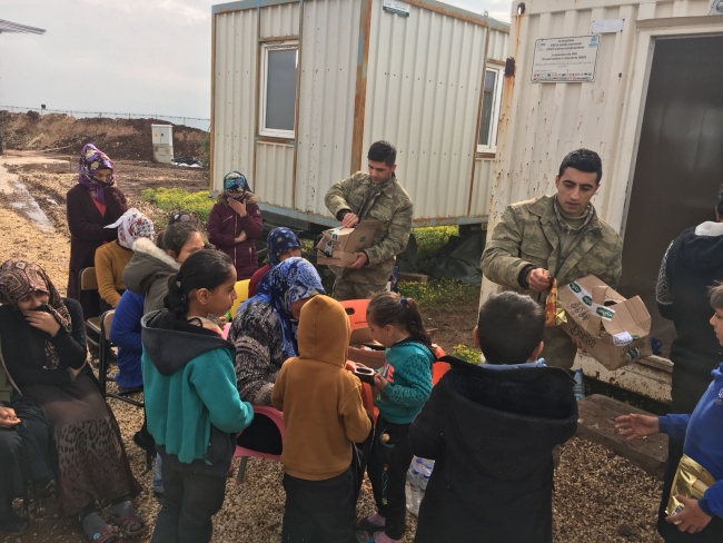
[[[489,227],[506,205],[553,194],[565,154],[597,151],[603,178],[593,203],[624,239],[618,290],[643,298],[652,336],[664,344],[674,330],[655,305],[661,260],[685,228],[715,220],[723,182],[721,13],[721,0],[512,6],[515,66],[504,81]],[[563,60],[546,56],[551,43]],[[493,288],[485,282],[483,297]],[[670,362],[661,357],[615,373],[587,357],[580,363],[621,386],[647,386],[637,392],[651,397],[670,394],[670,375],[660,373]]]

